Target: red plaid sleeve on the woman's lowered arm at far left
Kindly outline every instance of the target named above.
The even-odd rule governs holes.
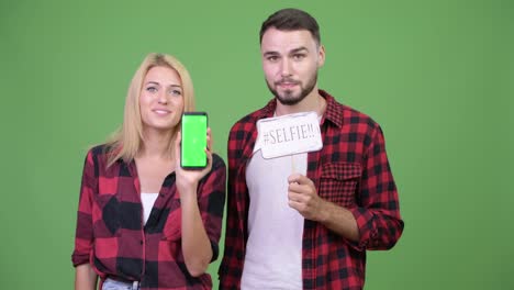
[[[86,156],[82,181],[80,187],[79,205],[77,211],[77,228],[75,235],[75,249],[71,261],[75,267],[89,263],[93,245],[92,201],[97,190],[98,180],[94,174],[94,158],[92,150]]]

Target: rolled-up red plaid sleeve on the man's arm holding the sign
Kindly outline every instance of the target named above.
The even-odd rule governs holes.
[[[396,186],[386,154],[380,126],[376,125],[364,163],[359,207],[350,209],[360,233],[357,249],[389,249],[403,232]]]

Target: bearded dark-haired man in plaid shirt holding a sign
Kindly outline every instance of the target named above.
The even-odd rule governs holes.
[[[260,52],[275,99],[230,133],[220,289],[362,289],[366,250],[391,248],[403,231],[382,131],[319,90],[325,49],[310,14],[270,15]],[[310,111],[323,148],[264,158],[257,121]]]

